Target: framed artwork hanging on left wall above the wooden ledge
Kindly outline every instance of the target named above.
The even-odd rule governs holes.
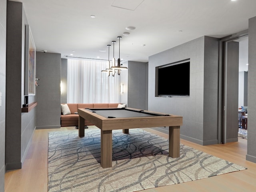
[[[36,46],[29,25],[25,25],[25,92],[36,94]]]

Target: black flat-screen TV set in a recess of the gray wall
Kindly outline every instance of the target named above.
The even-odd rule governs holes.
[[[190,60],[156,67],[156,96],[189,96]]]

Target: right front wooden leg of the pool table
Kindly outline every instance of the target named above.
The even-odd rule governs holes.
[[[180,126],[169,127],[169,157],[180,157]]]

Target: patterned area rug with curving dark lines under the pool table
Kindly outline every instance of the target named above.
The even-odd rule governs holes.
[[[180,145],[168,157],[168,140],[142,129],[113,130],[112,168],[100,166],[100,129],[49,132],[48,192],[134,192],[246,168]]]

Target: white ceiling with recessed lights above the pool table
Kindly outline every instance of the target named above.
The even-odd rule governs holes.
[[[256,0],[21,0],[37,51],[147,62],[148,57],[201,36],[248,29]],[[122,8],[118,8],[122,7]],[[95,15],[91,18],[90,15]],[[135,26],[135,30],[126,30]],[[182,32],[181,32],[182,31]],[[124,32],[130,35],[124,36]],[[144,45],[144,46],[142,46]],[[100,52],[106,50],[106,52]],[[75,51],[75,52],[72,52]],[[113,44],[110,59],[113,57]]]

